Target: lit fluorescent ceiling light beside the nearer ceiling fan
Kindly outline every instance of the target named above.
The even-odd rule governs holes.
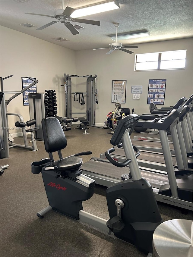
[[[115,9],[119,9],[119,3],[117,1],[110,1],[110,2],[102,2],[97,5],[91,5],[84,8],[76,9],[71,14],[72,18],[87,16],[91,14],[101,13],[105,11],[111,11]]]

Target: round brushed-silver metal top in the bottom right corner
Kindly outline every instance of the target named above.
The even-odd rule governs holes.
[[[161,223],[153,233],[153,257],[192,257],[192,237],[193,222],[190,220]]]

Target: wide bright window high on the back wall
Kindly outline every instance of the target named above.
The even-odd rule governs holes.
[[[184,69],[186,50],[135,55],[135,71]]]

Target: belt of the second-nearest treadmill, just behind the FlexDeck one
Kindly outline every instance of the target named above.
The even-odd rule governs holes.
[[[115,148],[115,151],[112,153],[112,155],[113,156],[118,155],[118,156],[124,156],[125,157],[125,152],[124,152],[123,148]],[[158,163],[165,164],[165,160],[164,160],[163,155],[156,154],[156,153],[151,153],[151,152],[142,152],[141,151],[141,154],[139,155],[137,160],[153,161],[153,162],[158,162]],[[176,163],[176,158],[175,157],[172,157],[172,162],[173,162],[173,165],[175,165],[175,163]]]

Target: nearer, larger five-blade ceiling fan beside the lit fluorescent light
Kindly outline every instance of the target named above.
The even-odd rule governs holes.
[[[79,34],[79,31],[74,27],[73,24],[70,23],[70,21],[100,26],[100,21],[72,18],[71,14],[74,11],[76,11],[76,9],[68,7],[68,6],[64,9],[64,1],[62,1],[62,9],[56,10],[54,12],[53,16],[45,15],[45,14],[36,14],[36,13],[25,13],[25,14],[40,15],[40,16],[46,16],[46,17],[51,17],[51,18],[56,19],[56,20],[51,21],[50,23],[48,23],[46,25],[43,25],[42,27],[38,28],[37,30],[43,30],[43,29],[45,29],[45,28],[47,28],[47,27],[49,27],[49,26],[51,26],[55,23],[58,23],[59,21],[61,23],[64,23],[64,25],[68,28],[68,30],[70,30],[70,32],[73,35]]]

